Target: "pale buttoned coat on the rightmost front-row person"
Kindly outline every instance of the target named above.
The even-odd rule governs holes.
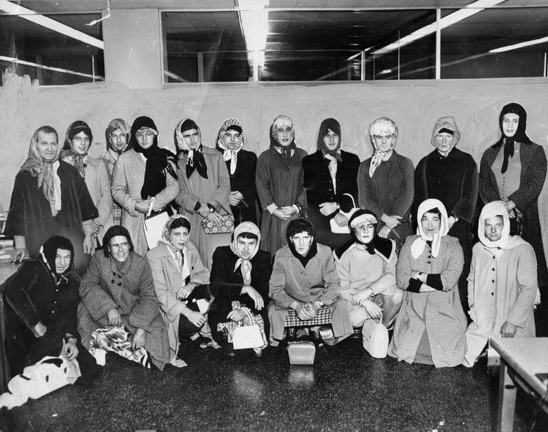
[[[498,256],[497,256],[498,255]],[[490,337],[501,337],[505,322],[516,337],[535,337],[536,259],[532,246],[493,250],[476,243],[468,276],[471,324],[466,330],[464,365],[473,366]]]

